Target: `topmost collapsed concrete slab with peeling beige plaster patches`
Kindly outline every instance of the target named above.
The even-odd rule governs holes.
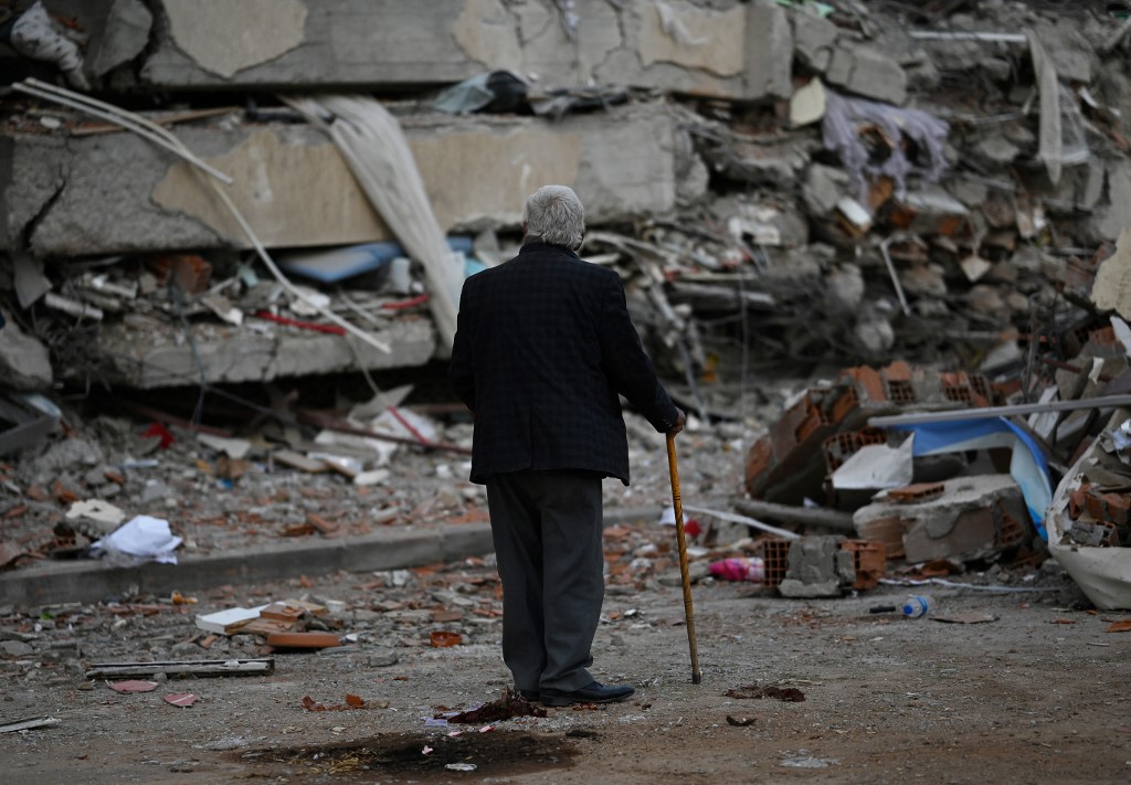
[[[757,100],[791,92],[785,9],[691,0],[159,0],[141,79],[162,89],[421,87],[510,69]],[[374,57],[374,53],[380,53]]]

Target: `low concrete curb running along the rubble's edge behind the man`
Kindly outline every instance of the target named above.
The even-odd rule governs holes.
[[[611,510],[605,526],[651,521],[659,508]],[[491,553],[490,524],[449,524],[422,530],[382,529],[362,537],[301,540],[209,555],[182,555],[176,564],[111,567],[103,561],[45,561],[0,575],[0,603],[34,606],[97,603],[132,593],[167,595],[224,584],[369,572],[454,561]]]

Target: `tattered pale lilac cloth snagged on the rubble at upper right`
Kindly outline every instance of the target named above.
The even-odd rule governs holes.
[[[869,162],[867,147],[860,135],[861,124],[874,124],[891,140],[891,155],[880,164]],[[836,150],[848,171],[852,183],[861,200],[867,197],[865,175],[890,176],[896,183],[896,196],[907,192],[907,175],[915,166],[904,155],[900,137],[910,137],[929,156],[930,163],[923,172],[927,183],[936,181],[947,171],[943,145],[950,132],[944,120],[918,109],[903,109],[878,101],[852,98],[834,90],[826,90],[824,120],[822,124],[824,147]]]

